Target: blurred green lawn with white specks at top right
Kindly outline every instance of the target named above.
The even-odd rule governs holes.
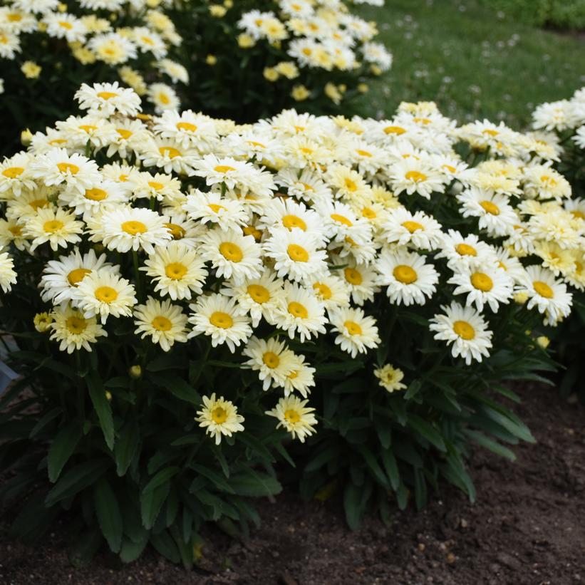
[[[392,51],[362,113],[391,115],[402,100],[435,100],[460,121],[529,123],[534,105],[585,86],[585,40],[512,22],[478,0],[386,0],[361,9]]]

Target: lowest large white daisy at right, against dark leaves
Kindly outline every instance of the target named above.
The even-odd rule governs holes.
[[[451,345],[454,358],[461,356],[467,366],[472,360],[482,361],[490,356],[492,331],[480,313],[470,306],[461,306],[452,301],[450,306],[441,306],[445,314],[437,314],[430,319],[430,331],[436,331],[435,339]]]

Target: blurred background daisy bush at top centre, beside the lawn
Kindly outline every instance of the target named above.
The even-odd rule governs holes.
[[[207,80],[192,88],[196,107],[249,119],[295,103],[320,112],[336,110],[343,100],[365,93],[367,79],[387,71],[392,56],[373,40],[376,24],[353,14],[352,4],[185,2],[175,20],[192,46],[190,68]],[[378,0],[367,4],[381,5]],[[234,86],[239,100],[229,98]]]

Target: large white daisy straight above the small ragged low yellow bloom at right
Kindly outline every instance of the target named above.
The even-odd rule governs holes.
[[[425,257],[407,249],[383,250],[376,264],[378,283],[388,286],[390,303],[424,305],[437,290],[439,274]]]

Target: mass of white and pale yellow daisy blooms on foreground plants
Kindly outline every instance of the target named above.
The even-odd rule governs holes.
[[[433,103],[388,120],[149,118],[133,90],[107,89],[81,88],[87,113],[0,164],[0,286],[42,262],[34,326],[62,351],[107,343],[123,319],[165,352],[208,338],[281,391],[269,415],[304,440],[317,421],[290,396],[315,385],[314,340],[357,358],[390,334],[385,316],[422,319],[470,364],[502,343],[507,306],[554,325],[584,288],[585,216],[552,134],[457,128]],[[372,374],[388,392],[415,375]],[[243,428],[222,400],[197,419],[217,442]]]

